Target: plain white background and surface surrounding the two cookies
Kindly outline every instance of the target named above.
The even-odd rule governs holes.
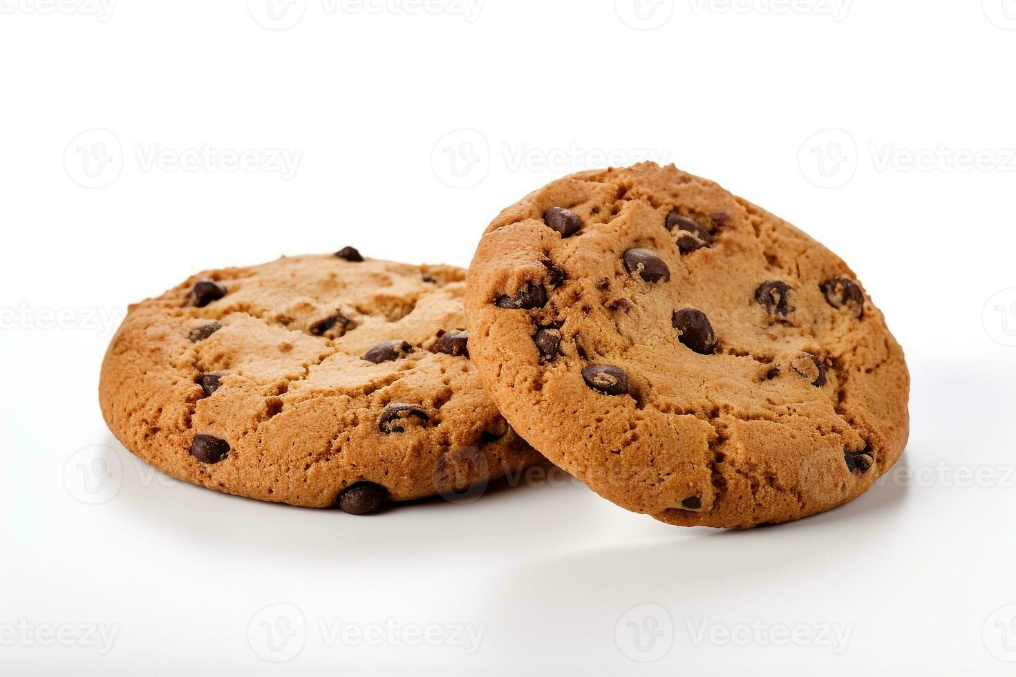
[[[1012,674],[1016,2],[402,1],[0,0],[0,673]],[[128,302],[351,244],[467,265],[503,206],[645,158],[850,263],[912,476],[749,532],[560,474],[356,519],[106,430]]]

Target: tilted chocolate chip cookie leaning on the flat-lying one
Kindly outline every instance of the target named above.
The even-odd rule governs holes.
[[[903,353],[853,272],[673,165],[530,194],[468,279],[469,355],[501,411],[629,510],[785,522],[854,498],[906,444]]]

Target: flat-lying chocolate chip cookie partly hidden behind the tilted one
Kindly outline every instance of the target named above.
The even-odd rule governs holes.
[[[357,515],[519,471],[541,457],[480,387],[464,273],[345,248],[197,275],[131,307],[103,414],[179,479]]]

